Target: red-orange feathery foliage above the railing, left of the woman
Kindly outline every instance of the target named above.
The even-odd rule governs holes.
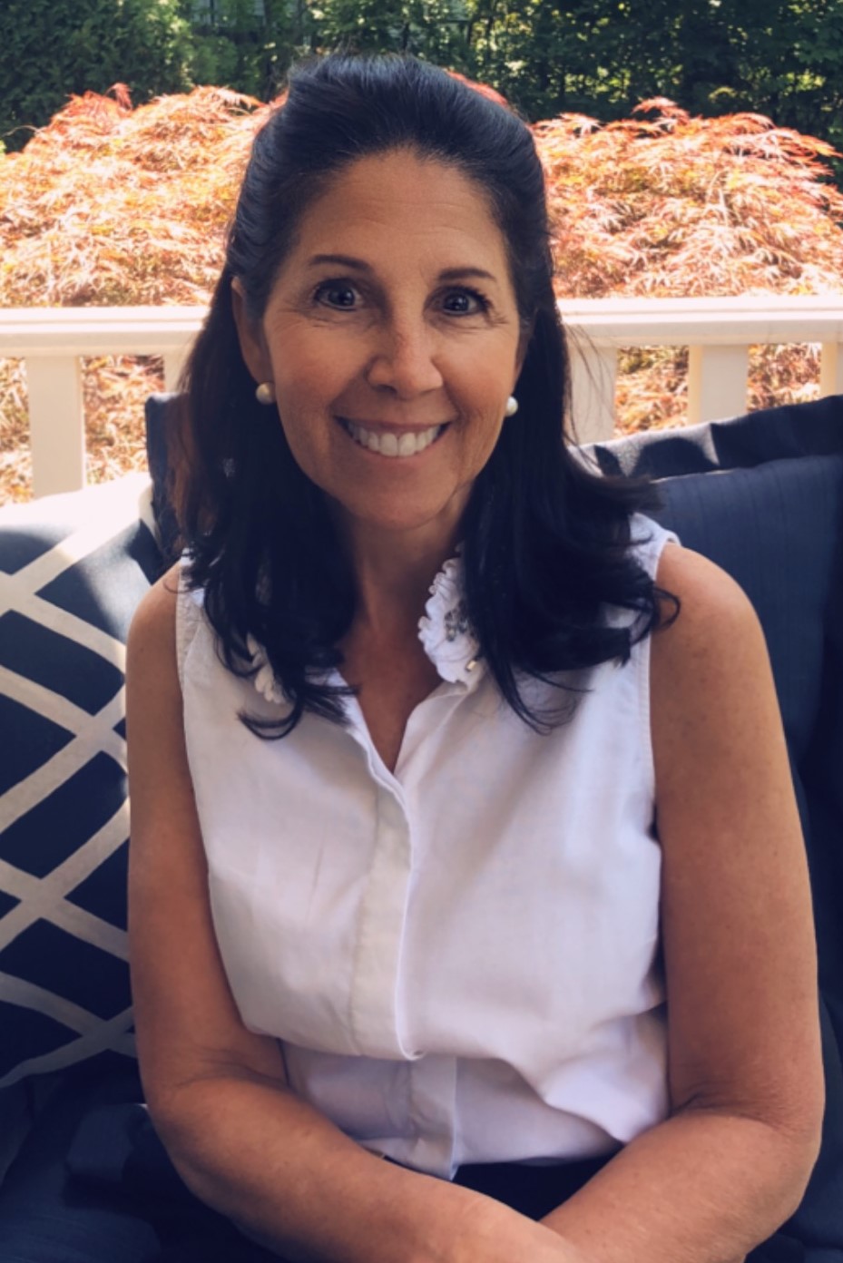
[[[0,159],[0,306],[206,302],[259,101],[73,97]]]

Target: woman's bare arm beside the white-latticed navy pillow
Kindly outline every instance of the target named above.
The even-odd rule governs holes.
[[[575,1263],[559,1235],[383,1162],[288,1089],[220,961],[185,751],[171,575],[129,639],[129,935],[144,1089],[182,1178],[291,1260]]]

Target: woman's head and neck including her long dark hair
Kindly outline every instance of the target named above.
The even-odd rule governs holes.
[[[458,538],[484,662],[535,726],[571,695],[557,681],[533,709],[518,671],[624,658],[629,629],[604,601],[641,615],[636,635],[657,624],[653,576],[628,552],[641,491],[564,442],[549,241],[532,136],[499,104],[412,58],[293,73],[190,365],[179,496],[226,664],[254,669],[250,635],[289,702],[246,706],[255,730],[292,731],[307,710],[341,721],[355,640],[406,705],[430,691],[416,620]],[[418,433],[435,440],[422,452]]]

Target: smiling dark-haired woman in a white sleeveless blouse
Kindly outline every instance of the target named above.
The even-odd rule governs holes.
[[[327,58],[190,364],[188,560],[129,647],[133,979],[158,1132],[260,1257],[732,1263],[816,1153],[762,635],[565,450],[547,241],[514,115]]]

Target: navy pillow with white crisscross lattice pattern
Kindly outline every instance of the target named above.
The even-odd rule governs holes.
[[[125,640],[145,475],[0,510],[0,1087],[134,1055]]]

